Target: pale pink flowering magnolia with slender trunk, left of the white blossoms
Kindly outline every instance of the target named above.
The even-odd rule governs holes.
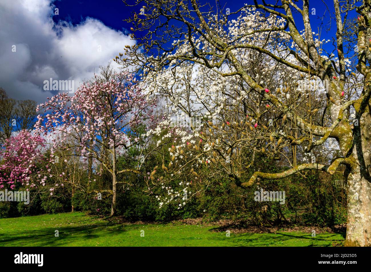
[[[117,186],[124,182],[120,175],[140,173],[137,168],[118,169],[118,157],[142,141],[135,128],[154,121],[155,104],[135,84],[132,74],[114,72],[108,80],[96,77],[84,83],[72,97],[59,93],[38,106],[45,114],[37,117],[36,132],[50,139],[52,154],[74,148],[75,155],[92,159],[92,165],[103,165],[111,173],[111,215],[116,211]],[[74,138],[74,144],[68,137]]]

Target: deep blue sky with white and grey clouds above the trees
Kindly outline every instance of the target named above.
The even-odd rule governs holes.
[[[206,1],[202,1],[203,3]],[[215,1],[210,1],[215,5]],[[221,1],[231,11],[252,0]],[[296,2],[299,3],[299,2]],[[313,31],[322,28],[321,38],[335,36],[335,23],[326,33],[319,16],[325,12],[321,0],[310,0]],[[326,0],[333,12],[332,1]],[[55,91],[43,90],[44,80],[74,80],[75,88],[98,72],[134,41],[128,37],[131,25],[123,20],[139,8],[121,0],[1,0],[0,1],[0,87],[16,99],[42,103]],[[54,9],[59,14],[54,15]],[[355,12],[349,17],[357,17]],[[295,14],[299,29],[303,28]],[[325,24],[329,14],[326,14]],[[13,51],[13,47],[16,51]],[[100,48],[100,49],[99,49]],[[331,48],[333,50],[333,48]]]

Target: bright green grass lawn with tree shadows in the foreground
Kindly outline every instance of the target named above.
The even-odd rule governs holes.
[[[0,219],[0,246],[331,246],[341,234],[233,234],[213,226],[118,224],[82,212]],[[55,230],[59,237],[55,237]],[[144,237],[141,237],[144,230]]]

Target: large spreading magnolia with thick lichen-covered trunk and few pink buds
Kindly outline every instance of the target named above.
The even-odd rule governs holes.
[[[142,2],[137,4],[142,6]],[[244,167],[253,165],[256,152],[281,159],[290,152],[292,156],[286,158],[290,168],[280,173],[255,169],[242,186],[251,186],[260,178],[280,179],[310,170],[334,175],[343,169],[348,184],[345,245],[369,246],[371,2],[364,0],[356,8],[354,3],[334,0],[335,15],[330,16],[336,36],[330,39],[321,39],[320,33],[314,32],[313,22],[321,22],[318,16],[312,16],[308,0],[282,0],[277,4],[254,1],[239,10],[220,10],[219,5],[201,5],[197,0],[144,2],[145,12],[128,20],[133,23],[132,38],[140,33],[135,38],[137,44],[125,48],[127,58],[120,54],[116,61],[123,66],[133,66],[133,62],[139,65],[148,86],[166,90],[176,103],[190,98],[179,93],[190,90],[200,94],[200,86],[206,86],[203,97],[193,98],[202,108],[200,112],[210,110],[204,115],[208,120],[200,133],[191,133],[189,140],[181,138],[185,142],[171,148],[175,165],[178,152],[183,156],[179,157],[176,172],[184,174],[185,165],[196,165],[199,160],[219,164],[238,179]],[[353,10],[358,18],[350,18]],[[293,15],[294,11],[298,16]],[[298,20],[303,30],[298,29]],[[326,45],[329,41],[335,47]],[[191,83],[197,71],[188,68],[184,72],[185,66],[197,66],[213,80],[203,85],[197,80]],[[162,77],[166,73],[174,75],[171,80]],[[157,81],[157,77],[163,80]],[[224,91],[227,101],[222,111],[212,86],[220,81],[221,85],[231,83],[229,91],[238,94],[233,99]],[[223,86],[219,87],[223,93]],[[213,103],[206,106],[203,102],[209,94]],[[183,103],[183,108],[176,110],[198,110],[187,106]],[[308,156],[307,161],[297,160],[298,150]],[[313,159],[313,154],[323,150],[329,160]],[[233,164],[234,169],[230,167]],[[165,165],[162,168],[169,170]],[[188,175],[197,177],[198,173],[191,168]]]

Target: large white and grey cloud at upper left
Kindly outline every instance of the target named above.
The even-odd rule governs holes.
[[[125,45],[134,44],[121,31],[93,18],[76,26],[55,24],[51,2],[0,1],[0,87],[9,97],[43,103],[55,94],[43,90],[44,80],[75,80],[76,89]]]

